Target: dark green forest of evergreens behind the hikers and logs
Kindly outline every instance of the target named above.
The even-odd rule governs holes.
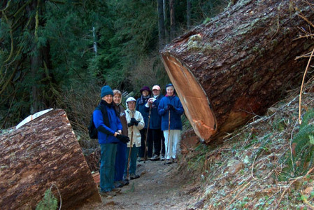
[[[169,78],[159,50],[228,0],[1,1],[0,127],[64,109],[86,132],[102,85],[137,97]]]

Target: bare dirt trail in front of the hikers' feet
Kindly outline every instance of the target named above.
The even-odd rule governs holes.
[[[191,186],[185,175],[177,172],[178,164],[164,165],[162,161],[139,162],[139,179],[115,197],[102,197],[102,203],[85,204],[85,209],[190,209],[195,202],[189,195]]]

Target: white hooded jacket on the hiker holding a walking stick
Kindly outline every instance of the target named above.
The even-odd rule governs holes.
[[[144,127],[144,119],[142,114],[139,111],[135,111],[134,116],[132,114],[132,111],[127,109],[125,111],[125,117],[127,118],[127,123],[131,122],[131,118],[135,118],[138,122],[138,125],[132,125],[128,129],[128,136],[131,141],[133,141],[133,144],[135,144],[136,147],[141,146],[141,133],[140,130]],[[131,134],[133,134],[133,138],[131,137]],[[127,147],[130,147],[131,141],[127,144]],[[133,144],[131,147],[133,147]]]

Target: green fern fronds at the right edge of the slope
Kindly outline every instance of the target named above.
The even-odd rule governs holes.
[[[308,169],[314,166],[314,111],[308,110],[300,125],[299,132],[292,141],[292,154],[283,157],[287,167],[284,172],[287,177],[296,177],[306,174]],[[292,155],[292,156],[291,156]]]

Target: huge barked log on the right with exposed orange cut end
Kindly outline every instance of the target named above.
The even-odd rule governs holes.
[[[208,143],[262,115],[301,84],[313,41],[298,38],[314,20],[305,1],[241,0],[173,40],[162,61],[197,135]]]

